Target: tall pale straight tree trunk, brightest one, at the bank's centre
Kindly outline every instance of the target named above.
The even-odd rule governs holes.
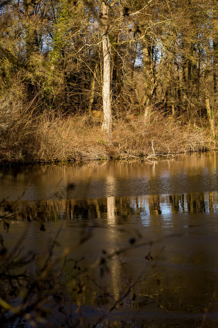
[[[101,4],[102,12],[102,48],[104,57],[103,66],[103,86],[102,86],[102,98],[103,98],[103,112],[104,121],[102,124],[102,130],[110,134],[112,132],[112,117],[111,117],[111,106],[110,106],[110,51],[111,45],[108,38],[109,32],[109,6],[106,2]]]

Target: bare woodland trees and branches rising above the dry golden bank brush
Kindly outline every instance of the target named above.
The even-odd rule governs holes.
[[[6,0],[0,33],[2,153],[44,154],[51,118],[91,125],[102,109],[107,134],[129,113],[143,124],[158,113],[210,129],[215,145],[217,0]]]

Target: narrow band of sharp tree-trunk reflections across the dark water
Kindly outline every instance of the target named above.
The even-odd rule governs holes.
[[[8,202],[12,204],[12,202]],[[19,208],[29,202],[16,202],[16,218],[22,216]],[[48,221],[63,218],[88,222],[89,219],[108,217],[117,223],[128,215],[161,215],[176,213],[218,212],[218,192],[187,193],[182,195],[146,195],[137,197],[107,197],[85,200],[46,200],[31,205],[36,218]]]

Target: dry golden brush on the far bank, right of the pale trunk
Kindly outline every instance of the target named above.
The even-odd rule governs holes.
[[[158,154],[175,154],[210,148],[208,129],[184,126],[181,119],[161,113],[153,113],[147,120],[137,115],[126,118],[114,124],[115,157],[145,156],[153,154],[154,150]]]

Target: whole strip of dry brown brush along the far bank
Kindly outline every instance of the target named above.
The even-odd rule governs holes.
[[[206,119],[192,123],[185,115],[154,111],[145,120],[140,113],[126,112],[114,117],[110,138],[102,132],[102,119],[100,111],[81,116],[8,111],[1,116],[0,164],[143,159],[216,149]]]

